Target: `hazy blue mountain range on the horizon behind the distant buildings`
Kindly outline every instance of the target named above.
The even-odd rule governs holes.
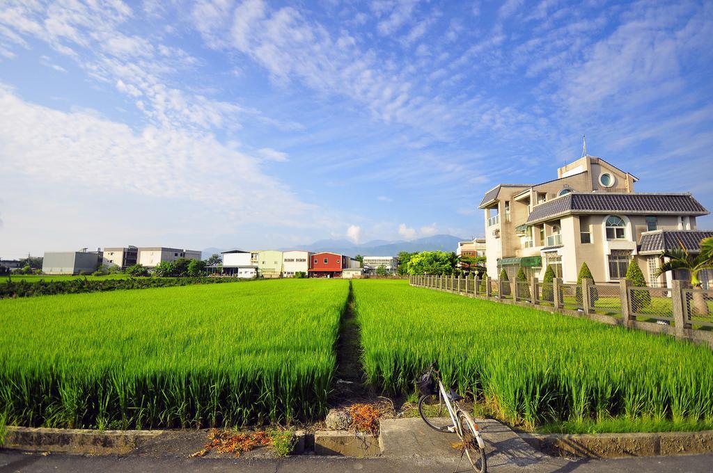
[[[343,239],[324,239],[314,241],[312,244],[301,246],[289,246],[280,248],[280,251],[288,251],[291,249],[302,249],[318,253],[319,251],[332,251],[333,253],[346,254],[347,256],[396,256],[399,251],[456,251],[458,241],[464,241],[462,238],[453,237],[453,235],[433,235],[431,237],[423,237],[415,240],[371,240],[362,244],[354,244],[354,242]],[[207,259],[211,254],[220,253],[225,249],[206,248],[202,251],[202,258]]]

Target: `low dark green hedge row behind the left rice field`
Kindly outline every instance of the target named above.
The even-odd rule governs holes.
[[[0,284],[0,298],[50,296],[53,294],[76,294],[98,291],[116,291],[116,289],[149,289],[153,287],[189,286],[191,284],[220,284],[240,281],[239,278],[129,278],[72,279],[71,281],[6,281]],[[245,281],[243,279],[242,281]]]

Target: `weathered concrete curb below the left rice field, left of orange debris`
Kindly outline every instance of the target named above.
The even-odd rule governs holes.
[[[162,435],[163,430],[83,430],[6,427],[2,448],[31,452],[125,454]]]

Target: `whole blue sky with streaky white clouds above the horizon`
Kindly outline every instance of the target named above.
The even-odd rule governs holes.
[[[583,133],[713,209],[711,38],[710,2],[6,0],[0,256],[473,237]]]

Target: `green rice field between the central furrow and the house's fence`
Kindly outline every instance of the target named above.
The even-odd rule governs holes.
[[[365,373],[391,393],[411,393],[438,360],[444,383],[529,429],[713,427],[706,346],[406,281],[353,285]]]

